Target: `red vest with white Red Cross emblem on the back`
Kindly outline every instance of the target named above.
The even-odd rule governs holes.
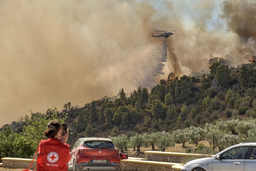
[[[38,171],[67,171],[70,146],[58,139],[42,140],[38,145]]]

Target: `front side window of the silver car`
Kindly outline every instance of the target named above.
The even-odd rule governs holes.
[[[222,154],[222,160],[244,159],[248,146],[234,147]]]

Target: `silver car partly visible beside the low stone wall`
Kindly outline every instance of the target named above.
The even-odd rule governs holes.
[[[213,157],[187,162],[181,171],[255,171],[256,142],[228,147]]]

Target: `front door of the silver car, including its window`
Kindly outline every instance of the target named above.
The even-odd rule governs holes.
[[[220,159],[212,161],[212,171],[244,171],[244,163],[249,146],[237,146],[220,154]]]

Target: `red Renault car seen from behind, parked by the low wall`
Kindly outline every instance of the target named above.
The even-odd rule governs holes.
[[[71,149],[69,170],[120,171],[119,150],[108,138],[80,138]]]

